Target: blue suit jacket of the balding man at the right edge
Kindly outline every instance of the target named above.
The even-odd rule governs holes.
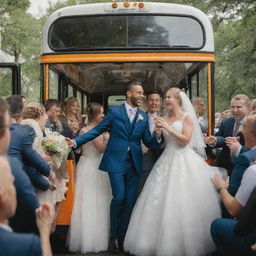
[[[235,196],[240,187],[245,170],[249,167],[250,163],[255,160],[256,149],[249,150],[245,147],[241,149],[240,155],[235,161],[235,166],[230,176],[228,191],[232,196]]]

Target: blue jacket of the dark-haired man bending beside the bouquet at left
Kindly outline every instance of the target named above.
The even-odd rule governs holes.
[[[23,169],[35,187],[47,190],[49,188],[49,182],[41,175],[48,177],[51,168],[33,149],[34,138],[35,131],[32,127],[12,124],[8,155],[17,158],[23,163]]]

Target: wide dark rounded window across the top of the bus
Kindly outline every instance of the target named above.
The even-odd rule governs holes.
[[[200,49],[204,30],[185,16],[101,15],[57,19],[49,31],[55,51],[110,48]]]

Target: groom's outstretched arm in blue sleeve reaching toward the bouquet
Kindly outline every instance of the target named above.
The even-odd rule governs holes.
[[[100,134],[102,134],[112,126],[112,121],[113,115],[110,108],[105,118],[98,125],[96,125],[93,129],[89,130],[85,134],[82,134],[74,139],[75,147],[78,148],[85,144],[86,142],[98,137]]]

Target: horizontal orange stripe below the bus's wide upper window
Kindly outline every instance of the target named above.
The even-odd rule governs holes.
[[[41,64],[71,62],[149,62],[149,61],[210,61],[211,53],[97,53],[97,54],[55,54],[40,57]]]

